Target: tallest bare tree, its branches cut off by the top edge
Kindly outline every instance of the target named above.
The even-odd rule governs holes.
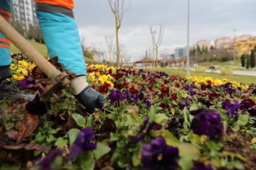
[[[121,7],[119,6],[119,1],[121,1]],[[116,21],[116,61],[117,66],[120,66],[120,47],[119,47],[119,40],[118,40],[118,30],[121,27],[121,21],[123,19],[124,12],[129,10],[131,1],[129,1],[129,7],[124,9],[124,0],[108,0],[110,8],[115,15]]]

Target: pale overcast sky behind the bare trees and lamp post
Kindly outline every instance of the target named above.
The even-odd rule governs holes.
[[[129,0],[125,0],[124,8],[128,6]],[[138,60],[153,46],[149,26],[159,33],[162,24],[165,31],[159,53],[174,53],[176,47],[187,45],[187,7],[187,0],[131,0],[119,29],[119,43],[125,45],[127,55]],[[107,50],[105,36],[115,35],[108,0],[75,0],[74,12],[86,46]],[[256,0],[190,0],[189,45],[200,39],[214,45],[214,39],[233,38],[234,33],[256,36]]]

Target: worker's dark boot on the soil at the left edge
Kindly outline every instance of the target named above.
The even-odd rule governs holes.
[[[35,95],[20,91],[12,81],[0,80],[0,99],[4,97],[10,98],[11,100],[24,98],[26,101],[32,101]]]

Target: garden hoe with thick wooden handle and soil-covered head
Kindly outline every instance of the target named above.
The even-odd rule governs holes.
[[[13,45],[24,53],[31,61],[37,64],[38,68],[42,70],[49,78],[50,84],[44,87],[44,93],[40,96],[45,96],[50,93],[53,88],[61,86],[62,88],[69,85],[68,74],[60,72],[55,68],[45,57],[43,57],[29,42],[21,36],[4,18],[0,15],[0,32],[12,42]]]

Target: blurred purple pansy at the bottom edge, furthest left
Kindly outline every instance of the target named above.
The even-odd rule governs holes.
[[[52,152],[48,153],[45,158],[42,158],[36,166],[39,166],[40,170],[51,170],[51,163],[53,163],[56,156],[61,155],[61,150],[53,150]]]

